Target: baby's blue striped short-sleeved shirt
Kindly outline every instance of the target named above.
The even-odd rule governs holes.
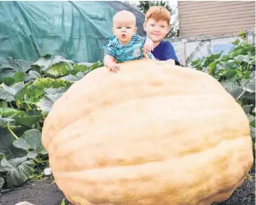
[[[117,37],[113,36],[103,45],[103,49],[108,55],[114,57],[117,62],[133,61],[143,58],[142,48],[145,41],[146,37],[134,34],[128,44],[121,45]]]

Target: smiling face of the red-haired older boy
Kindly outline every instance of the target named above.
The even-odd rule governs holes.
[[[149,39],[152,39],[153,42],[159,42],[166,37],[170,26],[167,21],[154,21],[153,19],[149,19],[147,23],[144,22],[144,30]]]

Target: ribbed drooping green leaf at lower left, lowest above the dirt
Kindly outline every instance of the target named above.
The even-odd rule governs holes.
[[[34,173],[34,162],[27,161],[27,157],[17,157],[11,160],[4,157],[0,171],[7,171],[7,187],[13,188],[24,183]]]

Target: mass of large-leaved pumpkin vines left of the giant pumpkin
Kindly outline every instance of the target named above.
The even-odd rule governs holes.
[[[37,62],[7,57],[0,66],[0,189],[14,188],[48,166],[43,121],[53,103],[101,62],[47,54]]]

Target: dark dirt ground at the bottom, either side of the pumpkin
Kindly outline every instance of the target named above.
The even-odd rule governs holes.
[[[252,175],[255,176],[254,173]],[[0,195],[0,205],[15,205],[24,201],[34,205],[60,205],[64,195],[52,182],[53,180],[27,182],[18,189]],[[255,205],[255,178],[245,180],[231,198],[219,205]]]

